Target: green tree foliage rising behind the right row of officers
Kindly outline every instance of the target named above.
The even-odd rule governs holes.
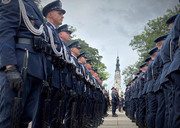
[[[136,72],[139,70],[139,66],[149,56],[148,51],[155,47],[154,39],[169,33],[166,21],[169,17],[179,13],[179,8],[180,5],[177,5],[173,9],[168,9],[166,14],[162,17],[149,20],[147,25],[144,27],[144,31],[141,34],[133,37],[129,46],[131,46],[133,50],[137,50],[139,59],[134,65],[128,66],[123,71],[125,84],[128,84],[128,82],[133,79],[133,74],[136,74]]]

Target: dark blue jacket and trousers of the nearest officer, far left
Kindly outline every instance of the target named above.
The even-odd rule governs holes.
[[[28,18],[33,22],[35,28],[39,28],[44,21],[36,4],[33,0],[24,0],[23,2]],[[45,79],[46,74],[45,56],[33,49],[30,40],[33,40],[35,35],[24,24],[23,18],[20,16],[18,1],[13,0],[7,4],[1,1],[0,10],[0,26],[3,26],[0,27],[0,85],[2,86],[0,92],[0,127],[10,127],[13,100],[17,96],[17,92],[9,86],[4,69],[7,65],[16,65],[21,71],[25,48],[29,51],[29,63],[28,76],[22,94],[23,114],[20,123],[21,126],[26,127],[34,119],[37,112],[42,80]],[[25,40],[30,43],[27,44]]]

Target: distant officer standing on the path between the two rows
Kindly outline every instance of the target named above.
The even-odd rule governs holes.
[[[114,87],[112,87],[111,90],[112,90],[112,93],[111,93],[112,117],[118,117],[118,115],[116,114],[116,107],[117,107],[117,102],[119,101],[119,97]]]

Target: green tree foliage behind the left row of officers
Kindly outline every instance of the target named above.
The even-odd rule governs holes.
[[[79,41],[79,45],[81,46],[81,52],[86,53],[88,59],[92,60],[93,68],[98,69],[98,72],[103,78],[103,80],[107,80],[110,75],[108,72],[105,71],[107,67],[104,63],[101,62],[102,56],[99,55],[98,49],[90,47],[88,43],[81,39],[71,40],[68,44],[74,41]]]

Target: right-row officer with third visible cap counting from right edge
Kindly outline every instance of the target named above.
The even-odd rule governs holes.
[[[157,55],[157,47],[152,48],[149,50],[148,54],[151,56],[152,61],[149,63],[147,68],[147,112],[146,112],[146,123],[148,128],[154,128],[155,127],[155,117],[156,117],[156,111],[157,111],[157,100],[156,95],[153,91],[154,86],[154,78],[152,76],[153,73],[153,66],[154,66],[154,59]]]

